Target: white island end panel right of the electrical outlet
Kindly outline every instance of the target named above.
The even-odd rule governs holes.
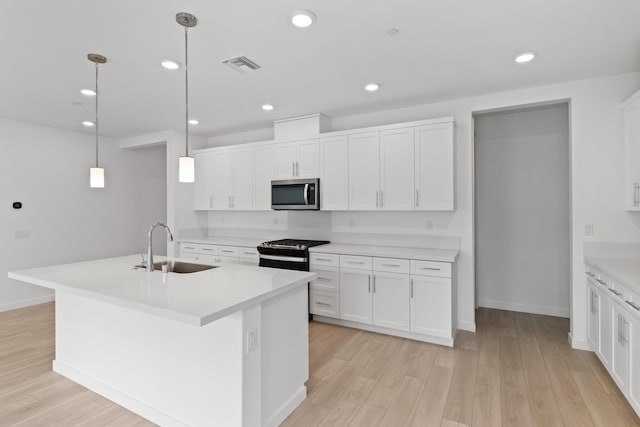
[[[307,284],[262,303],[262,425],[279,425],[306,398]]]

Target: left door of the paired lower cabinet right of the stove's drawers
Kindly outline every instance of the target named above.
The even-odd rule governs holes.
[[[353,322],[372,321],[371,272],[340,270],[340,318]]]

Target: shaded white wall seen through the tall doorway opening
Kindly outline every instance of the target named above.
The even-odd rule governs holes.
[[[568,115],[563,103],[475,117],[481,307],[569,317]]]

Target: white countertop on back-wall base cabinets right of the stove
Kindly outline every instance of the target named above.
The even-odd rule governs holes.
[[[442,262],[455,262],[458,257],[458,251],[445,249],[405,248],[379,245],[347,245],[341,243],[329,243],[328,245],[314,246],[309,248],[309,252]]]

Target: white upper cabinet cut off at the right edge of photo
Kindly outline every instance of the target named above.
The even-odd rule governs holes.
[[[624,104],[626,210],[640,212],[640,91]]]

